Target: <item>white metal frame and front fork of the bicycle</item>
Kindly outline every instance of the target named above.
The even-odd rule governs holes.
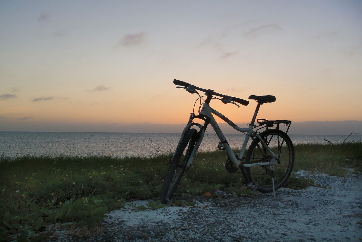
[[[191,163],[193,162],[195,154],[197,153],[197,150],[198,150],[198,148],[199,148],[199,146],[201,144],[201,141],[203,139],[206,127],[208,126],[209,123],[210,123],[211,127],[214,129],[214,131],[216,133],[216,136],[218,136],[222,147],[226,150],[226,152],[227,152],[228,156],[230,157],[233,165],[235,167],[239,167],[239,165],[241,164],[239,160],[241,160],[241,158],[244,156],[244,152],[245,152],[245,150],[247,148],[249,138],[251,136],[255,136],[258,139],[260,139],[261,141],[263,141],[262,138],[253,130],[254,122],[256,120],[256,116],[258,114],[259,108],[260,108],[260,104],[258,104],[257,107],[256,107],[256,110],[255,110],[253,118],[252,118],[252,122],[249,124],[249,127],[248,128],[240,128],[235,123],[233,123],[230,119],[228,119],[226,116],[224,116],[220,112],[216,111],[215,109],[212,109],[209,104],[207,104],[206,102],[203,103],[203,106],[202,106],[202,109],[201,109],[199,115],[195,115],[194,113],[191,113],[188,125],[185,127],[185,129],[184,129],[184,131],[182,132],[182,135],[181,135],[181,139],[182,139],[185,132],[188,131],[191,128],[191,126],[198,126],[199,129],[200,129],[199,137],[198,137],[198,139],[197,139],[197,141],[195,143],[195,147],[194,147],[194,149],[193,149],[193,151],[191,153],[191,156],[190,156],[190,158],[189,158],[189,160],[187,162],[187,167],[189,167],[191,165]],[[237,130],[239,132],[247,132],[244,143],[243,143],[243,146],[241,147],[241,150],[240,150],[239,154],[237,154],[237,157],[233,153],[230,145],[228,144],[223,132],[221,131],[218,123],[216,122],[216,120],[215,120],[215,118],[214,118],[214,116],[212,114],[215,114],[216,116],[218,116],[219,118],[224,120],[227,124],[229,124],[235,130]],[[205,124],[202,126],[201,124],[193,123],[194,118],[199,118],[199,119],[204,120]],[[243,166],[244,167],[251,167],[251,166],[271,165],[271,169],[274,170],[273,165],[277,164],[278,154],[274,154],[270,150],[270,148],[266,144],[264,144],[264,142],[261,142],[261,144],[263,144],[263,147],[265,149],[267,149],[273,155],[273,159],[270,162],[243,164]],[[220,146],[220,144],[219,144],[219,146]]]

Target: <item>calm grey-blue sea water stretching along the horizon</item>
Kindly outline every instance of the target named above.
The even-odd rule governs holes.
[[[86,132],[0,132],[0,155],[5,157],[27,154],[79,155],[113,154],[114,156],[149,156],[174,150],[180,133],[86,133]],[[241,148],[245,135],[226,134],[232,148]],[[342,143],[346,135],[290,135],[294,144]],[[347,141],[358,141],[361,135],[351,135]],[[249,141],[250,142],[250,141]],[[215,150],[219,144],[214,133],[205,134],[201,150]]]

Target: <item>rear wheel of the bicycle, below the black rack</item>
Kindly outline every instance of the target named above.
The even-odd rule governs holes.
[[[294,166],[294,146],[290,137],[283,131],[277,129],[265,130],[260,133],[265,144],[274,154],[279,150],[279,161],[274,169],[274,189],[281,188],[288,180]],[[279,141],[279,142],[278,142]],[[269,162],[273,156],[268,150],[262,147],[261,140],[256,138],[249,146],[245,164],[258,162]],[[248,182],[258,184],[256,190],[267,193],[273,192],[271,170],[269,165],[252,166],[245,168]]]

